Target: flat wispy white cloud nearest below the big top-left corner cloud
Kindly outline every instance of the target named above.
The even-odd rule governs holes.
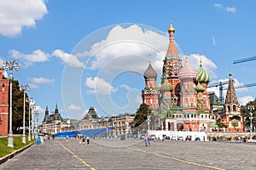
[[[32,54],[23,54],[20,51],[12,49],[9,51],[9,54],[15,59],[20,59],[25,66],[30,66],[35,62],[48,61],[50,57],[49,54],[45,54],[40,49],[34,50]]]

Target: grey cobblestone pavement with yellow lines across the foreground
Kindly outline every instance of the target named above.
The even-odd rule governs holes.
[[[256,169],[256,144],[95,139],[34,144],[0,169]]]

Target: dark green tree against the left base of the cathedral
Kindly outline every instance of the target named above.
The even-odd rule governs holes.
[[[139,126],[143,122],[147,120],[147,116],[151,115],[151,110],[149,109],[147,104],[142,104],[137,109],[136,116],[133,119],[133,122],[135,123],[135,127]]]

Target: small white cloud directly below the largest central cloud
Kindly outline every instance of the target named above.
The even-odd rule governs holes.
[[[92,90],[87,91],[87,94],[110,94],[118,90],[99,77],[87,77],[85,80],[85,86],[92,88]]]

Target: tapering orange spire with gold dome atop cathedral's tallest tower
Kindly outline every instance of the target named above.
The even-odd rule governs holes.
[[[169,46],[167,49],[166,57],[167,58],[177,58],[177,48],[176,48],[176,44],[174,42],[175,29],[172,26],[172,22],[171,22],[171,26],[168,29],[168,32],[169,32],[170,42],[169,42]]]

